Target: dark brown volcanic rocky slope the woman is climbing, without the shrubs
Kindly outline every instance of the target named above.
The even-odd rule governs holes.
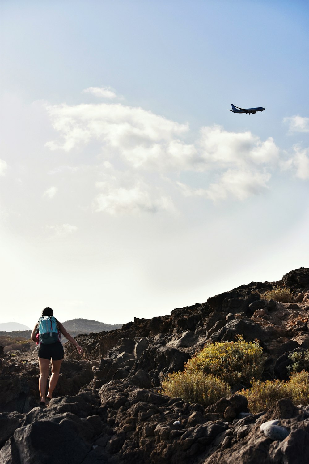
[[[291,289],[294,301],[261,300],[275,285]],[[80,335],[82,360],[67,343],[55,398],[45,408],[38,407],[38,361],[2,354],[0,462],[308,463],[308,406],[282,399],[252,415],[236,387],[206,408],[158,393],[166,374],[183,369],[205,342],[237,334],[260,340],[264,380],[288,379],[288,355],[309,348],[308,291],[309,269],[300,268],[167,316]]]

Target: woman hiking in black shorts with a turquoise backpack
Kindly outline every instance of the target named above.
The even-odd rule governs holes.
[[[52,316],[52,317],[47,317]],[[51,308],[44,308],[42,316],[34,326],[31,333],[31,340],[38,343],[38,362],[40,365],[40,376],[38,379],[38,389],[40,391],[40,406],[47,405],[52,399],[52,393],[59,379],[60,366],[64,358],[63,344],[61,334],[72,342],[79,354],[82,354],[82,347],[74,338],[64,329],[61,322],[54,317],[54,311]],[[46,384],[49,376],[49,367],[51,359],[51,376],[46,394]]]

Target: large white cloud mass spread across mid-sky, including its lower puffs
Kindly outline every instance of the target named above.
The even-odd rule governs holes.
[[[46,105],[46,110],[60,135],[59,140],[47,142],[47,147],[69,152],[98,142],[104,169],[110,170],[111,160],[122,166],[121,173],[113,169],[107,177],[101,173],[103,183],[97,187],[103,192],[95,197],[95,211],[119,214],[172,209],[168,195],[148,185],[146,171],[211,172],[217,181],[202,189],[182,184],[182,193],[211,200],[243,200],[265,190],[271,178],[267,171],[279,159],[271,137],[261,141],[250,131],[228,132],[212,125],[203,127],[189,143],[188,124],[120,103]]]

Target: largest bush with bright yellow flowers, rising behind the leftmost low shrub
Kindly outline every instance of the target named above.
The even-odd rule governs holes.
[[[185,365],[189,374],[203,372],[221,378],[229,385],[238,382],[249,386],[263,372],[265,355],[258,341],[245,342],[240,335],[236,342],[208,343]]]

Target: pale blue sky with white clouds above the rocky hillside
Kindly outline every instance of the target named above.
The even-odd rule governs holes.
[[[307,1],[0,9],[1,323],[125,323],[309,267]]]

